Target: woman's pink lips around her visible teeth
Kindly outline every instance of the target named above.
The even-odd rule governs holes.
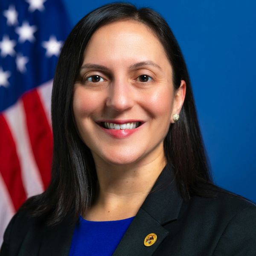
[[[134,129],[125,129],[125,130],[115,130],[115,129],[106,129],[105,127],[101,126],[100,123],[101,122],[110,122],[110,123],[115,123],[115,124],[119,124],[119,125],[122,125],[122,124],[125,124],[125,123],[128,123],[128,122],[141,122],[141,125],[137,128],[134,128]],[[111,137],[113,138],[116,138],[116,139],[124,139],[124,138],[127,138],[129,136],[131,136],[131,134],[134,134],[135,132],[139,131],[140,128],[143,126],[143,121],[141,120],[138,120],[138,119],[126,119],[126,120],[109,120],[109,119],[104,119],[104,120],[100,120],[100,121],[97,121],[96,122],[100,128],[102,128],[102,130],[110,135]]]

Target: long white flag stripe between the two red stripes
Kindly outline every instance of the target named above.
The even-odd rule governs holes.
[[[44,186],[30,145],[23,103],[19,100],[11,108],[4,111],[4,116],[16,144],[21,178],[27,197],[41,194]]]

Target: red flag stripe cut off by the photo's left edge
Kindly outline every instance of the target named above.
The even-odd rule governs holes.
[[[15,142],[3,114],[0,114],[0,173],[17,210],[26,200]]]

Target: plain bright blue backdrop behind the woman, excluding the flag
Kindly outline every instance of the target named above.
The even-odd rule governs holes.
[[[64,0],[73,26],[105,3]],[[163,15],[180,44],[215,183],[256,202],[256,1],[130,3]]]

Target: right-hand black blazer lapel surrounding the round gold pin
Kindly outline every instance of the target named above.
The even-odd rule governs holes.
[[[163,225],[177,219],[182,202],[172,169],[166,166],[122,237],[113,256],[152,255],[169,234]],[[150,233],[157,235],[157,241],[146,247],[144,239]]]

